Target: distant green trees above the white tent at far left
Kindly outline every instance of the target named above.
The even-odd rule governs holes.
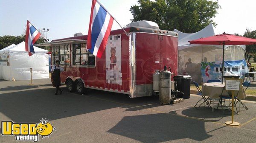
[[[0,36],[0,50],[12,44],[17,45],[22,41],[25,41],[25,34],[21,34],[20,36],[9,36],[9,35]],[[44,39],[40,37],[35,42],[35,44],[43,43],[43,42],[44,42]]]

